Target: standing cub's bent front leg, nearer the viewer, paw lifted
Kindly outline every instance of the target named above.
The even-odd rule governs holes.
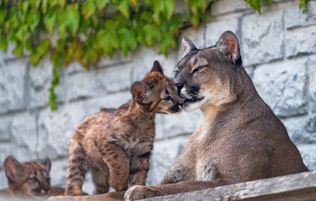
[[[129,177],[128,159],[123,150],[109,141],[99,151],[110,170],[110,185],[117,191],[127,187]]]

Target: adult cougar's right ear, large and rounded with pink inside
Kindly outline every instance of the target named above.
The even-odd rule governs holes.
[[[215,47],[219,48],[224,55],[227,55],[235,65],[241,64],[239,43],[233,32],[224,32],[218,39]]]

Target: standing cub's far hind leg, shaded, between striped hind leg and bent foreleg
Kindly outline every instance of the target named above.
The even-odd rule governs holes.
[[[109,170],[107,167],[103,169],[92,168],[92,181],[94,183],[94,194],[103,194],[109,191]]]

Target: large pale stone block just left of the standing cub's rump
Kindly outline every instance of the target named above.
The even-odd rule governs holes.
[[[85,117],[84,101],[61,106],[57,112],[51,112],[50,108],[40,111],[37,148],[39,157],[67,157],[70,138]]]

